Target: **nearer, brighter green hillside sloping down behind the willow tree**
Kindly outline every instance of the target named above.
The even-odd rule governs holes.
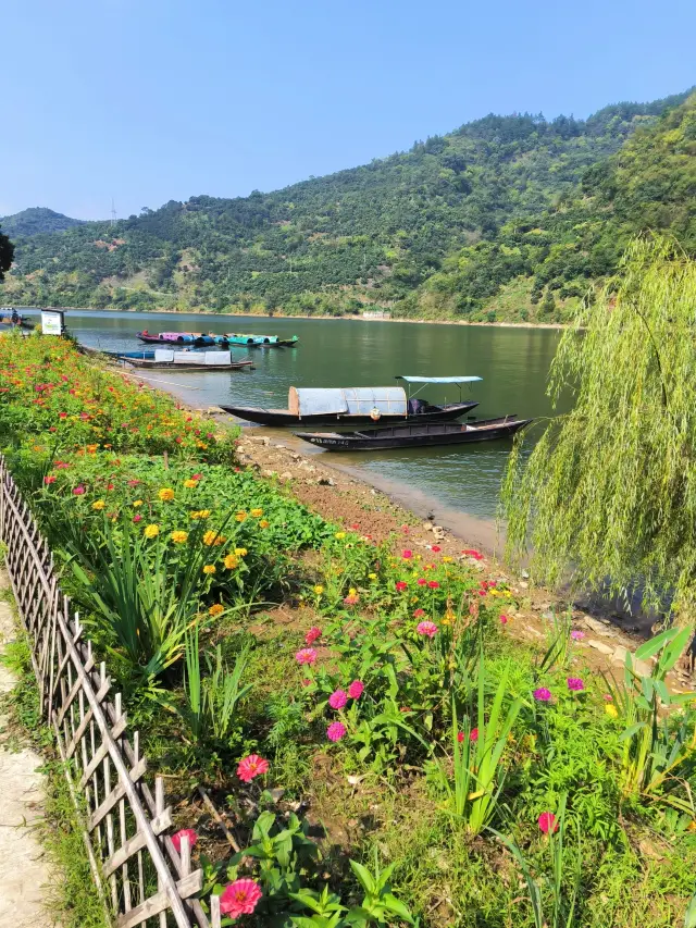
[[[696,253],[696,94],[589,168],[576,196],[529,220],[515,218],[492,239],[451,255],[400,310],[562,321],[592,281],[616,269],[627,239],[645,230],[669,232]]]

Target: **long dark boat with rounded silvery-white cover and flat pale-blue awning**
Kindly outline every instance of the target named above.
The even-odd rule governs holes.
[[[448,383],[469,383],[481,378],[450,378]],[[440,380],[431,379],[430,383]],[[359,386],[318,389],[291,386],[287,409],[264,409],[256,406],[223,406],[232,416],[261,425],[375,425],[377,422],[437,422],[459,419],[476,401],[434,405],[424,399],[407,397],[402,386]]]

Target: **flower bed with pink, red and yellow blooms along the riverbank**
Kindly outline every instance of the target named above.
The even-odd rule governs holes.
[[[568,617],[536,651],[514,639],[477,552],[328,525],[236,468],[234,433],[63,342],[0,339],[0,389],[11,467],[226,924],[683,921],[695,719],[664,678],[684,634],[638,651],[650,677],[598,678]]]

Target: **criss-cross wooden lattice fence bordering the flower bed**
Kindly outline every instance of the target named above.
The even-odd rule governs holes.
[[[127,731],[121,693],[97,664],[78,615],[60,589],[53,556],[0,458],[0,539],[29,636],[41,712],[55,734],[98,892],[116,928],[219,928],[194,896],[202,871],[190,847],[169,837],[171,809],[161,777],[146,782],[138,732]]]

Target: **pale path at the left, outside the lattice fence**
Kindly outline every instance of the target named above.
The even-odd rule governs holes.
[[[0,591],[8,589],[0,571]],[[0,654],[14,636],[14,621],[8,603],[0,602]],[[8,693],[14,678],[0,664],[0,693]],[[44,887],[50,879],[46,853],[36,834],[41,818],[44,778],[37,772],[42,760],[23,747],[7,745],[7,718],[0,714],[0,928],[50,926],[44,908]]]

